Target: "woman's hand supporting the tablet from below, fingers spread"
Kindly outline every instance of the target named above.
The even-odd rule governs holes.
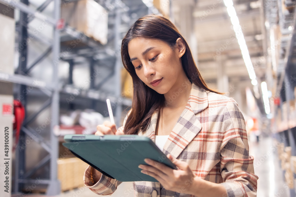
[[[186,162],[173,158],[170,154],[167,157],[178,167],[178,170],[174,170],[151,159],[144,160],[150,166],[139,165],[139,168],[143,169],[141,171],[142,173],[158,180],[167,190],[192,194],[192,183],[196,176],[193,174],[189,165]]]

